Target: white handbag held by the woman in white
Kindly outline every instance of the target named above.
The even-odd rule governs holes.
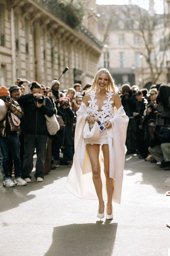
[[[95,121],[92,128],[90,128],[89,123],[86,123],[86,125],[83,128],[82,131],[82,138],[87,140],[98,140],[100,135],[100,127],[98,123]]]

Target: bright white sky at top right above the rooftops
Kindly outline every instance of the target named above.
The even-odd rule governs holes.
[[[142,8],[148,10],[148,1],[149,0],[131,0],[132,4],[140,5]],[[129,0],[96,0],[96,4],[128,4]],[[154,0],[155,3],[155,12],[163,13],[164,4],[163,0]]]

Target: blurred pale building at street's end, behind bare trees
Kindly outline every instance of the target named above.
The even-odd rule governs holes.
[[[129,16],[128,9],[131,10]],[[98,37],[104,46],[99,66],[108,68],[119,85],[129,83],[139,85],[141,88],[145,86],[149,88],[151,74],[144,57],[146,48],[142,42],[143,39],[138,36],[140,22],[134,19],[138,9],[140,8],[137,5],[98,5],[98,12],[101,14]],[[146,10],[141,8],[141,12]],[[158,26],[157,30],[159,29]],[[160,54],[159,49],[160,45],[156,49],[156,55]],[[165,83],[167,82],[165,64],[167,58],[168,54],[165,56],[164,68],[159,77],[159,81]]]

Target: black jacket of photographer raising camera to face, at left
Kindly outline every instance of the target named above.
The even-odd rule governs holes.
[[[46,105],[42,105],[41,108],[37,108],[36,100],[33,94],[25,94],[19,97],[18,103],[24,110],[24,131],[27,134],[47,134],[46,118],[54,114],[53,105],[51,100],[47,97]]]

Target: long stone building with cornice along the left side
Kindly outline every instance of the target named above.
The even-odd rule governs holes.
[[[42,0],[0,0],[0,35],[0,86],[16,78],[51,86],[68,66],[64,89],[91,82],[98,70],[99,40],[85,26],[78,31],[62,22]]]

